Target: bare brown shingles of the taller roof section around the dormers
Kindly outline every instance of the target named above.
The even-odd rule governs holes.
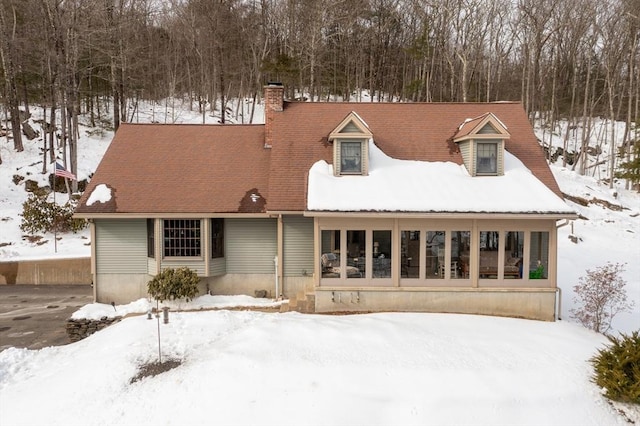
[[[463,164],[453,143],[460,125],[491,112],[511,135],[505,141],[507,151],[561,197],[520,103],[285,102],[284,111],[274,117],[270,210],[305,209],[308,170],[319,159],[332,162],[333,147],[327,136],[351,111],[367,123],[376,145],[390,157],[456,164]]]

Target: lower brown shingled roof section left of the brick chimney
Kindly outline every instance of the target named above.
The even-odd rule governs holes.
[[[76,213],[265,211],[271,152],[263,143],[261,125],[123,124]],[[115,201],[86,205],[99,184]],[[252,193],[261,198],[247,203]]]

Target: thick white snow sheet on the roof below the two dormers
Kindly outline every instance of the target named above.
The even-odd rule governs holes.
[[[370,139],[368,176],[334,176],[320,160],[308,182],[309,211],[574,213],[507,151],[504,176],[472,177],[452,162],[391,158]]]

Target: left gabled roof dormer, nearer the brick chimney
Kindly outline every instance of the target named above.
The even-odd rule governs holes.
[[[373,133],[355,112],[349,113],[329,134],[333,142],[333,174],[335,176],[369,173],[369,140]]]

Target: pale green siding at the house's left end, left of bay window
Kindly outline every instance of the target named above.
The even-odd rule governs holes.
[[[147,273],[145,219],[96,219],[96,273]]]

